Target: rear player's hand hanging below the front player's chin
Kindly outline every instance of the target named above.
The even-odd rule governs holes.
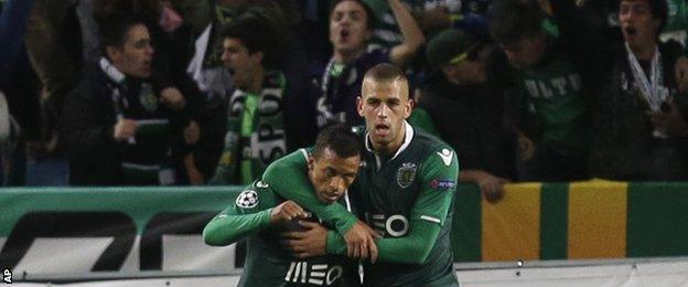
[[[346,255],[354,259],[370,258],[370,262],[375,263],[377,261],[377,245],[375,245],[374,238],[379,237],[368,225],[358,221],[344,234],[347,248]]]

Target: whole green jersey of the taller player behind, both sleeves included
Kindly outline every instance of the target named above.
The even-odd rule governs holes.
[[[362,130],[363,131],[363,130]],[[379,163],[378,163],[379,162]],[[327,252],[345,254],[345,234],[356,216],[341,204],[319,202],[312,188],[299,189],[307,168],[297,152],[271,164],[264,181],[284,198],[305,204],[336,231],[327,234]],[[379,168],[378,168],[379,167]],[[406,124],[398,155],[381,159],[368,150],[350,189],[353,205],[380,235],[378,263],[364,266],[364,286],[458,286],[450,245],[451,206],[459,163],[441,140]],[[337,235],[338,234],[338,235]]]

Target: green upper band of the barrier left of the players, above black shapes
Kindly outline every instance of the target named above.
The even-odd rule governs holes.
[[[29,212],[116,211],[133,220],[137,233],[162,212],[219,212],[240,187],[208,188],[41,188],[0,190],[0,236],[7,237]]]

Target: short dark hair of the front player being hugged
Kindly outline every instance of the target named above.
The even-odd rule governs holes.
[[[325,149],[330,149],[340,158],[351,158],[361,155],[361,142],[351,128],[337,124],[323,128],[313,147],[313,157],[319,158]]]

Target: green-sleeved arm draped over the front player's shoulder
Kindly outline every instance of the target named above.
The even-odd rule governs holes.
[[[325,204],[315,195],[307,174],[307,160],[302,150],[297,150],[270,164],[262,181],[270,184],[275,193],[293,200],[319,219],[335,226],[340,234],[346,234],[357,222],[355,215],[341,204]]]

